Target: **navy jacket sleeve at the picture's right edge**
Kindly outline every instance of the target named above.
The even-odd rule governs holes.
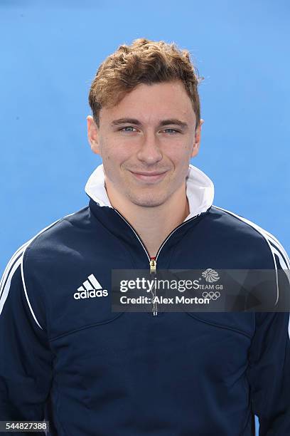
[[[276,256],[277,269],[283,276],[280,292],[285,295],[290,294],[286,254],[284,259],[285,271],[281,273],[281,256]],[[259,418],[259,436],[290,435],[289,307],[287,310],[255,313],[247,375],[252,411]]]

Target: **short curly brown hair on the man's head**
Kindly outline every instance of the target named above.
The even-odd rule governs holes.
[[[124,96],[140,83],[182,81],[190,97],[200,124],[200,99],[198,84],[203,77],[190,61],[187,50],[179,49],[175,43],[135,39],[130,46],[122,44],[100,65],[89,93],[89,104],[97,126],[100,126],[100,110],[117,105]]]

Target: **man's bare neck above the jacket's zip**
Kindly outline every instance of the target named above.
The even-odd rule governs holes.
[[[108,192],[109,191],[109,192]],[[186,187],[183,186],[158,207],[141,207],[121,199],[110,193],[107,194],[112,206],[134,227],[134,230],[144,242],[151,257],[155,257],[162,242],[173,229],[178,227],[190,213]]]

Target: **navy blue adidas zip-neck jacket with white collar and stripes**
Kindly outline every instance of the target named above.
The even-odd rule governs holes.
[[[259,436],[289,436],[289,313],[113,312],[111,270],[151,259],[109,203],[102,165],[85,190],[89,205],[4,271],[0,420],[45,418],[53,436],[253,436],[257,415]],[[213,205],[213,182],[193,165],[186,192],[190,214],[157,270],[289,268],[272,234]]]

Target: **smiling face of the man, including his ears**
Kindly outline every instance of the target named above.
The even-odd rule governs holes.
[[[118,105],[101,109],[100,128],[91,116],[87,127],[92,151],[102,157],[107,189],[142,207],[159,206],[185,186],[190,157],[200,145],[200,126],[195,131],[181,81],[142,83]]]

